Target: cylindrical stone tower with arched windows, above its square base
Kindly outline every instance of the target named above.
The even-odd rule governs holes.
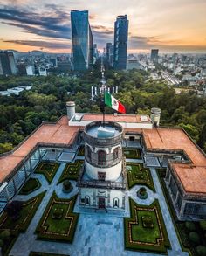
[[[86,125],[85,140],[86,175],[93,180],[116,181],[122,171],[123,129],[112,121],[92,122]]]

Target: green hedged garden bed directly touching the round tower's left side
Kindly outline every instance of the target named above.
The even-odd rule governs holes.
[[[66,179],[77,180],[79,176],[79,170],[83,165],[84,161],[76,160],[74,163],[67,163],[65,169],[60,176],[58,183],[62,183]]]

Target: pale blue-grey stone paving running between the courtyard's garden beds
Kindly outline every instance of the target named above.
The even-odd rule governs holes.
[[[134,163],[140,162],[138,159],[135,159]],[[75,181],[72,181],[72,186],[74,189],[69,194],[62,192],[62,183],[56,185],[58,178],[64,168],[65,163],[61,163],[58,172],[56,176],[54,176],[51,184],[47,183],[44,176],[34,174],[33,176],[38,177],[40,182],[43,184],[42,187],[29,196],[17,196],[15,198],[25,200],[37,195],[43,190],[47,190],[42,203],[39,205],[38,211],[31,221],[31,224],[25,233],[19,235],[17,242],[10,251],[10,255],[28,256],[31,251],[38,251],[45,253],[61,253],[71,256],[160,256],[160,254],[155,253],[125,251],[123,217],[107,214],[106,212],[92,214],[90,212],[81,213],[72,244],[37,240],[34,232],[38,225],[39,219],[45,211],[45,207],[48,204],[50,197],[52,196],[52,192],[55,190],[58,194],[58,197],[63,198],[72,197],[78,192]],[[188,253],[182,253],[179,241],[175,234],[175,228],[173,226],[172,219],[170,218],[168,207],[163,196],[161,184],[159,182],[156,171],[153,168],[150,170],[154,179],[156,193],[147,189],[148,199],[141,200],[136,196],[136,191],[139,190],[141,186],[136,185],[134,188],[127,192],[127,198],[132,197],[138,204],[151,204],[155,198],[158,198],[172,246],[172,250],[168,251],[168,255],[186,256]],[[129,216],[128,199],[126,199],[126,201],[127,211],[125,216]],[[79,206],[76,202],[75,210],[78,208]]]

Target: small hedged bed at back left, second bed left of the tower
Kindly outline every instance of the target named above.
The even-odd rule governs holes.
[[[44,161],[44,162],[38,163],[35,173],[43,174],[45,176],[45,179],[48,181],[48,183],[52,183],[52,180],[58,171],[59,165],[60,163]]]

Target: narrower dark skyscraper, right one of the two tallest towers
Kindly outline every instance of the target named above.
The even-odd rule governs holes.
[[[113,68],[126,69],[127,67],[127,15],[118,16],[114,23]]]

